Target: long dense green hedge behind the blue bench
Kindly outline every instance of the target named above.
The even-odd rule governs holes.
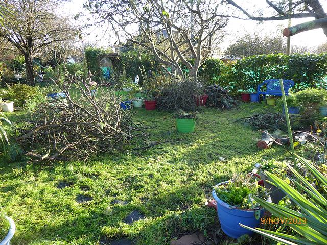
[[[267,79],[290,79],[292,90],[327,88],[327,54],[258,55],[226,64],[219,77],[220,86],[236,92],[255,92]]]

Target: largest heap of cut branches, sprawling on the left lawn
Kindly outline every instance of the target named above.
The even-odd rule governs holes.
[[[17,138],[41,160],[86,160],[97,153],[149,148],[151,136],[132,121],[129,110],[109,90],[98,85],[91,93],[90,77],[71,75],[71,81],[57,86],[66,97],[42,104],[31,119],[19,122]],[[77,96],[71,95],[74,93]],[[154,144],[155,145],[155,144]]]

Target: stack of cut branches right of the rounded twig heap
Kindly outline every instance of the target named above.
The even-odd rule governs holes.
[[[228,95],[228,90],[219,85],[205,86],[205,93],[208,95],[205,105],[221,109],[236,107],[238,103]]]

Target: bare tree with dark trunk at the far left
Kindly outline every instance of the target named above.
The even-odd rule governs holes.
[[[0,26],[0,38],[25,58],[26,75],[35,84],[33,58],[44,47],[75,38],[76,29],[67,18],[55,13],[61,0],[0,0],[6,21]],[[9,16],[8,16],[9,14]],[[58,45],[57,45],[58,46]]]

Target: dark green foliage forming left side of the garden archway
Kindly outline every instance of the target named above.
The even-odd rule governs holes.
[[[111,48],[86,48],[85,50],[85,59],[87,68],[91,73],[94,73],[95,81],[99,82],[100,79],[103,79],[101,67],[100,67],[100,58],[107,56],[112,53]]]

